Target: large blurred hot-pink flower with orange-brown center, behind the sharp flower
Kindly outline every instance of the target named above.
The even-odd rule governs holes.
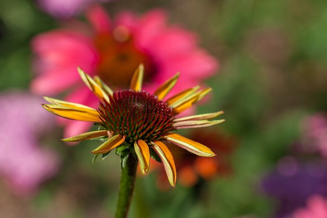
[[[110,87],[128,88],[134,70],[145,65],[144,89],[154,91],[158,84],[181,71],[171,94],[199,84],[212,76],[217,61],[197,46],[196,36],[176,26],[167,26],[166,13],[151,10],[142,17],[121,12],[112,20],[99,6],[88,10],[92,30],[54,30],[36,36],[32,48],[37,55],[36,78],[31,89],[38,94],[73,90],[67,101],[96,107],[98,100],[80,86],[76,67],[91,76],[98,75]],[[66,120],[65,137],[87,131],[89,125]]]

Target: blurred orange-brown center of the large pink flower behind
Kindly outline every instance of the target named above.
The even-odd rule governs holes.
[[[128,87],[139,64],[145,66],[145,81],[151,81],[155,74],[155,64],[135,46],[133,36],[124,26],[116,27],[111,34],[100,34],[95,38],[99,55],[98,76],[107,84]]]

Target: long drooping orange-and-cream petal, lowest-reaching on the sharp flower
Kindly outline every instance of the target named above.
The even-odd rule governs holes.
[[[164,164],[165,171],[167,174],[168,181],[171,186],[175,187],[176,184],[176,166],[172,153],[167,148],[166,144],[159,140],[152,141],[153,148],[157,152],[158,156],[161,159],[161,162]]]

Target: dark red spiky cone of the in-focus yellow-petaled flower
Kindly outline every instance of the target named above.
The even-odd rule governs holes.
[[[159,139],[174,129],[172,108],[149,92],[120,90],[109,98],[110,103],[100,104],[99,108],[104,126],[130,143]]]

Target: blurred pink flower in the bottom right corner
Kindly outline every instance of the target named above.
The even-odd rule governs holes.
[[[327,199],[313,196],[308,200],[306,208],[297,209],[291,218],[325,218],[327,217]]]

